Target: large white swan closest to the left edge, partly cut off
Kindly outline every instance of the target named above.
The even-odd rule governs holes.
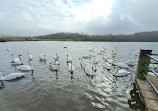
[[[13,79],[23,77],[24,75],[25,73],[11,73],[3,77],[2,73],[0,72],[0,80],[1,81],[13,80]]]

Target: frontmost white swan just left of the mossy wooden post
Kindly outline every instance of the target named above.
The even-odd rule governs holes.
[[[124,77],[130,74],[130,72],[128,72],[126,69],[120,69],[119,67],[115,66],[116,68],[116,73],[113,74],[113,76],[115,77]]]

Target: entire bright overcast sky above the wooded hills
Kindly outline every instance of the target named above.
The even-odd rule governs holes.
[[[158,31],[158,0],[0,0],[0,34]]]

